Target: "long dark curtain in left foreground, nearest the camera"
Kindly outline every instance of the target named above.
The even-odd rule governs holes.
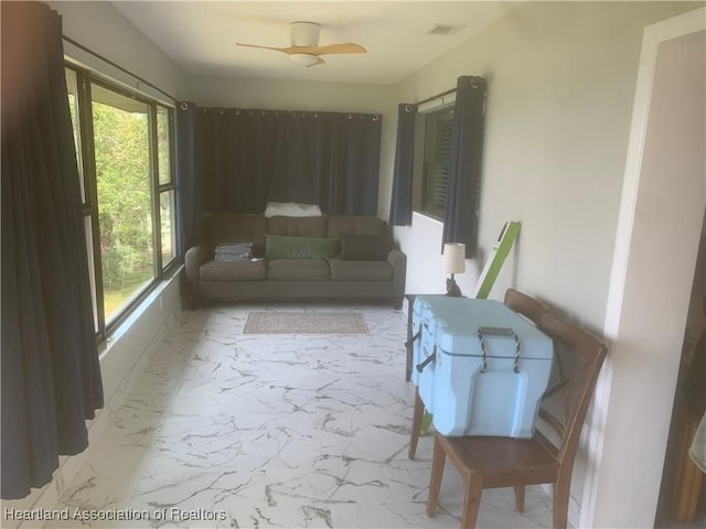
[[[103,406],[61,18],[2,12],[2,498],[52,479]]]

